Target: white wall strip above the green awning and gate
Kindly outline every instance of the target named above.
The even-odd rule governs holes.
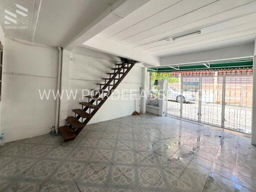
[[[254,44],[247,43],[237,46],[199,51],[188,54],[172,55],[161,58],[161,65],[200,62],[207,60],[228,59],[253,55]]]

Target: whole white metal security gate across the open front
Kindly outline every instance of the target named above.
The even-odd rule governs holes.
[[[167,87],[167,114],[250,134],[252,74],[175,78]]]

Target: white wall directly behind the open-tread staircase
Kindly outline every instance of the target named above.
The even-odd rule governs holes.
[[[73,91],[78,89],[79,91],[77,95],[79,96],[75,100],[69,100],[67,111],[68,116],[74,115],[72,109],[81,108],[79,102],[88,101],[88,98],[81,98],[81,89],[99,89],[99,85],[96,85],[96,83],[103,82],[101,81],[101,78],[108,78],[106,73],[111,72],[110,68],[115,67],[115,61],[119,61],[119,57],[84,47],[79,47],[75,49],[74,52],[76,61],[70,61],[69,88]],[[72,56],[73,54],[71,53],[71,57]],[[112,93],[113,99],[108,98],[97,113],[92,117],[89,123],[130,115],[134,110],[134,100],[130,99],[129,92],[132,89],[131,92],[135,94],[132,94],[131,97],[139,98],[141,74],[142,68],[139,66],[134,66],[116,88],[116,90],[119,92]],[[122,89],[124,93],[122,96],[125,99],[121,99]],[[116,99],[117,96],[119,96],[118,99]],[[138,105],[139,101],[137,100],[137,111],[139,111]]]

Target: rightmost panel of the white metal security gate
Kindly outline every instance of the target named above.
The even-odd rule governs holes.
[[[224,127],[251,131],[252,75],[225,76]]]

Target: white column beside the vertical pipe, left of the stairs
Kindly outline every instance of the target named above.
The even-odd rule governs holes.
[[[66,90],[68,91],[68,84],[69,84],[69,60],[70,60],[70,51],[63,50],[61,82],[60,82],[60,90],[59,90],[60,94],[63,90],[63,95],[59,103],[59,126],[63,126],[66,124],[65,119],[67,117],[67,106],[68,106]]]

